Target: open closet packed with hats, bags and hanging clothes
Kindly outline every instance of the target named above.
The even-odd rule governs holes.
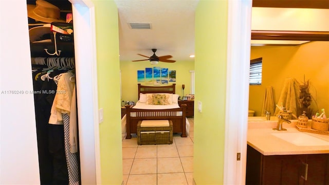
[[[68,1],[27,0],[41,184],[81,184],[74,28]]]

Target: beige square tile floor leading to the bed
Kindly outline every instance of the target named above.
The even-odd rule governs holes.
[[[137,135],[122,141],[123,184],[193,184],[193,118],[186,138],[173,144],[138,145]]]

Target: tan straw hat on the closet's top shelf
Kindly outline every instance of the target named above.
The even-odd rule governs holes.
[[[36,0],[35,4],[36,5],[27,5],[28,17],[45,23],[66,22],[66,20],[61,19],[60,9],[57,6],[54,6],[44,0]]]

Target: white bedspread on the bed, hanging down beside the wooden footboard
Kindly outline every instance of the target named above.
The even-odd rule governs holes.
[[[139,109],[170,109],[170,108],[179,108],[179,105],[177,103],[173,103],[170,105],[149,105],[149,104],[145,104],[145,103],[140,103],[139,101],[136,103],[136,105],[133,108],[139,108]],[[177,115],[181,115],[181,112],[177,112],[179,114]],[[131,116],[134,116],[134,113],[131,113]],[[135,115],[136,116],[136,115]],[[122,140],[125,138],[125,136],[127,135],[126,132],[126,115],[124,115],[121,119],[121,135],[122,135]],[[189,131],[190,131],[190,122],[189,120],[186,118],[186,134],[189,135]]]

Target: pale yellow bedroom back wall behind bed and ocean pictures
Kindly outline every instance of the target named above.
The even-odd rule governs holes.
[[[185,84],[184,94],[190,94],[191,78],[190,70],[194,70],[194,62],[176,61],[175,63],[159,62],[156,65],[151,65],[149,61],[131,62],[121,61],[121,91],[122,100],[137,102],[138,100],[138,85],[137,85],[137,70],[145,70],[145,67],[153,68],[168,68],[168,70],[176,70],[176,94],[182,96],[181,85]],[[142,85],[150,85],[141,82]],[[169,83],[168,85],[170,85]]]

